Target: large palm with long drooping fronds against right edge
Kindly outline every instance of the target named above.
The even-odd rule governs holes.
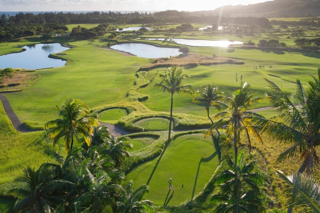
[[[253,122],[261,126],[261,132],[272,140],[291,144],[290,148],[278,156],[281,162],[296,154],[300,155],[302,162],[299,173],[307,170],[310,173],[320,164],[316,147],[320,145],[320,68],[318,78],[308,81],[307,90],[303,88],[300,80],[296,81],[296,88],[290,97],[274,82],[267,80],[271,89],[266,95],[282,122],[265,118],[255,118]]]

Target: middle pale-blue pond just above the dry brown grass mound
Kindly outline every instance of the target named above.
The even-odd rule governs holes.
[[[179,48],[156,47],[150,44],[140,43],[116,44],[110,48],[129,52],[143,58],[163,58],[181,54],[181,52],[179,52]]]

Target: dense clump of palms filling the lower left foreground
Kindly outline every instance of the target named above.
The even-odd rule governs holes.
[[[60,119],[49,121],[48,129],[56,144],[64,140],[66,157],[54,150],[45,154],[56,163],[44,163],[39,169],[28,167],[16,179],[20,188],[10,193],[17,198],[13,212],[142,212],[153,202],[142,200],[148,186],[132,188],[132,181],[121,186],[121,166],[132,144],[128,138],[110,135],[105,126],[90,117],[82,103],[69,99],[58,107]],[[73,148],[74,139],[82,143]]]

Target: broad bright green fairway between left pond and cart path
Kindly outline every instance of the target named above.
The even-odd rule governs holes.
[[[126,98],[128,88],[136,80],[135,72],[149,60],[123,56],[88,42],[106,44],[97,40],[69,42],[76,47],[64,52],[66,66],[37,70],[34,73],[40,78],[26,90],[5,94],[22,122],[44,124],[57,118],[55,106],[67,98],[80,99],[90,108]]]

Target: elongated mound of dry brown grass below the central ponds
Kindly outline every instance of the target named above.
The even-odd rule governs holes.
[[[140,67],[139,71],[148,71],[159,67],[169,67],[172,65],[191,66],[198,65],[218,65],[218,64],[244,64],[243,61],[234,60],[227,57],[208,56],[197,53],[182,54],[176,57],[158,58],[154,63]]]

